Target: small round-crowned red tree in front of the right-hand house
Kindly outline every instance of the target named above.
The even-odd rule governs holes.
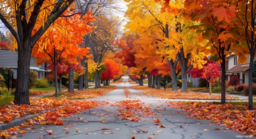
[[[203,78],[210,83],[210,95],[211,95],[211,83],[221,75],[219,69],[220,69],[220,66],[218,65],[218,63],[211,63],[206,67],[204,67]]]

